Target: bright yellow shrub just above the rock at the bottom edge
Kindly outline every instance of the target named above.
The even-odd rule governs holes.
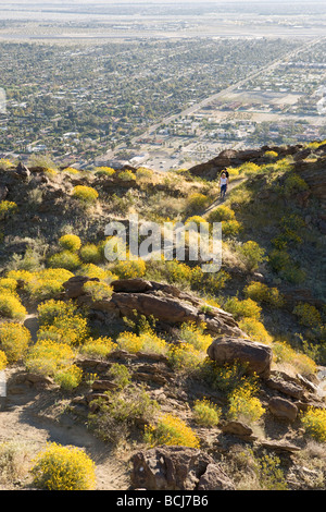
[[[199,439],[191,428],[172,414],[162,415],[156,425],[147,425],[145,441],[151,447],[156,444],[200,447]]]

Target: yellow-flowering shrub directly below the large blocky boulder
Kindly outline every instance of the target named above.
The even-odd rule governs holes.
[[[261,418],[265,410],[260,400],[254,397],[254,391],[248,382],[233,391],[228,398],[228,416],[231,419],[255,423]]]

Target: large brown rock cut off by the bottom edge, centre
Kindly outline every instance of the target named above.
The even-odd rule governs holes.
[[[146,490],[235,490],[214,460],[196,448],[156,447],[131,458],[131,485]]]

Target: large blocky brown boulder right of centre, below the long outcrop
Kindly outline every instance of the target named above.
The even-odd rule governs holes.
[[[273,358],[272,349],[243,338],[220,337],[208,348],[208,355],[217,364],[246,365],[249,373],[255,373],[262,378],[268,378]]]

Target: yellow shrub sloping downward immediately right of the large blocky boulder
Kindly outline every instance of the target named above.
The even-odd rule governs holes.
[[[291,365],[302,375],[314,374],[317,369],[316,363],[309,355],[296,351],[285,341],[273,343],[273,358],[276,364]]]

